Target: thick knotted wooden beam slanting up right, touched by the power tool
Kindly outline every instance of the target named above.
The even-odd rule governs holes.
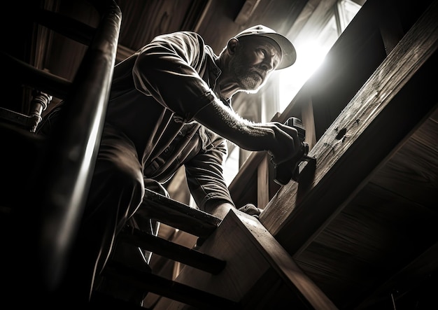
[[[437,20],[434,1],[311,150],[310,180],[283,186],[260,216],[288,253],[309,241],[434,108]]]

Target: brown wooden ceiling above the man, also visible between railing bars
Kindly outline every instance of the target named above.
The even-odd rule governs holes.
[[[48,10],[90,25],[96,25],[99,15],[87,1],[43,1]],[[207,44],[220,52],[227,40],[242,29],[264,23],[268,27],[287,32],[306,5],[306,0],[244,1],[244,0],[119,0],[122,24],[118,47],[118,61],[149,43],[159,34],[179,30],[197,31]],[[57,34],[45,38],[42,68],[71,80],[85,52],[85,47]],[[57,55],[57,58],[49,57]],[[66,57],[66,61],[62,58]],[[62,66],[60,65],[62,64]]]

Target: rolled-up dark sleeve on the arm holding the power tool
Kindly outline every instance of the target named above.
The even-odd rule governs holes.
[[[137,52],[133,69],[136,89],[189,122],[216,99],[199,75],[206,64],[205,48],[201,36],[192,32],[157,36]]]

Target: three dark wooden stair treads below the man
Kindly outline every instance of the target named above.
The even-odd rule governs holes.
[[[148,211],[150,218],[197,236],[200,241],[213,234],[220,223],[219,218],[211,216],[209,213],[191,208],[148,189],[146,189],[141,208]],[[126,230],[129,232],[122,232],[118,236],[117,242],[127,242],[143,250],[152,251],[154,255],[181,262],[207,274],[220,274],[226,267],[225,260],[207,255],[195,248],[181,246],[130,227],[126,227]],[[120,262],[110,261],[104,269],[103,276],[122,281],[122,283],[136,283],[136,286],[145,292],[178,300],[197,309],[239,309],[238,302],[158,276],[154,274],[153,270],[142,272]]]

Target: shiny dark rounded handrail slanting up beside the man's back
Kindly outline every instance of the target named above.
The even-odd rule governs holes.
[[[83,214],[104,127],[120,32],[122,13],[115,1],[90,2],[101,13],[101,20],[64,100],[41,168],[35,171],[28,187],[36,218],[30,229],[37,265],[31,268],[39,270],[38,283],[48,292],[55,290],[62,279]],[[29,217],[29,212],[23,216]]]

